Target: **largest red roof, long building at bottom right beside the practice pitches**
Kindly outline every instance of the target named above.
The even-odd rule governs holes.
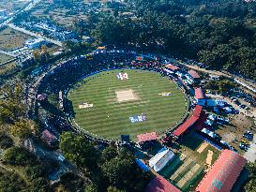
[[[231,150],[223,150],[196,192],[230,192],[247,160]]]

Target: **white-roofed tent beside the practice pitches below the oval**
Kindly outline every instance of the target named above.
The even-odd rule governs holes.
[[[149,166],[158,172],[173,160],[174,156],[171,150],[163,150],[149,160]]]

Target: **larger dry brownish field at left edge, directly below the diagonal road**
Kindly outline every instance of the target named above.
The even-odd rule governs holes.
[[[11,28],[0,30],[0,50],[11,51],[16,48],[22,48],[24,42],[31,38]]]

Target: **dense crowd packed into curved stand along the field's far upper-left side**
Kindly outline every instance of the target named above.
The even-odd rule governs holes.
[[[137,61],[136,57],[134,52],[98,52],[73,58],[55,68],[41,82],[38,93],[57,94],[61,90],[65,92],[77,81],[103,70],[129,67],[161,71],[158,61],[148,58]]]

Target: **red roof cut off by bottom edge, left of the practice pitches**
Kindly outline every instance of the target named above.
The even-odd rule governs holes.
[[[157,175],[151,182],[146,186],[144,192],[181,192],[177,187],[172,185],[162,176]]]

